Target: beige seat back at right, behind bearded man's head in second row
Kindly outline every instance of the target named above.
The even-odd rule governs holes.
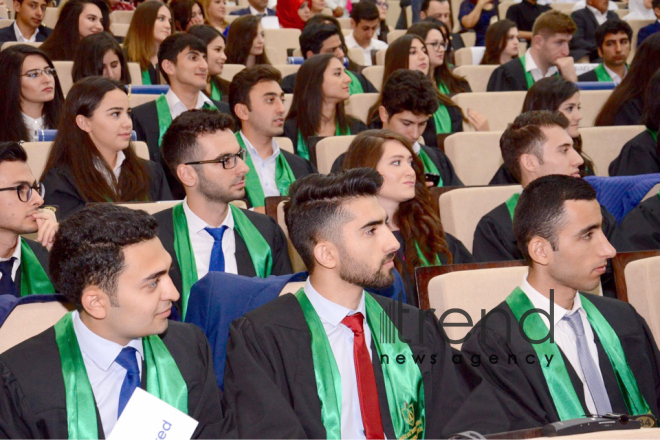
[[[610,163],[623,145],[646,129],[643,125],[581,128],[582,151],[594,162],[597,176],[609,176]]]

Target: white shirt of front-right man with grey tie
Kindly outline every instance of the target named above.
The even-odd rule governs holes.
[[[527,297],[530,299],[530,301],[532,302],[535,308],[550,313],[550,299],[548,297],[543,296],[538,290],[534,289],[527,282],[527,275],[525,275],[525,278],[522,284],[520,285],[520,288],[522,289],[523,292],[525,292],[525,294],[527,294]],[[573,300],[573,308],[571,310],[566,310],[565,308],[555,303],[553,312],[554,312],[553,318],[554,318],[554,326],[555,326],[554,329],[555,343],[559,346],[559,348],[561,348],[561,351],[564,352],[564,355],[571,363],[573,369],[575,370],[578,377],[582,381],[584,387],[584,400],[587,404],[587,410],[589,410],[591,414],[597,414],[596,405],[594,404],[594,399],[591,396],[591,392],[589,392],[589,388],[587,387],[587,382],[584,380],[584,374],[582,373],[582,368],[580,367],[580,360],[578,357],[575,332],[573,332],[573,329],[571,328],[568,322],[562,321],[564,315],[572,315],[573,313],[580,314],[580,318],[582,318],[582,326],[584,327],[584,336],[587,340],[587,346],[589,347],[589,352],[591,353],[591,357],[596,363],[596,366],[598,367],[598,372],[600,373],[600,363],[598,361],[598,349],[596,348],[596,342],[594,342],[594,331],[591,328],[591,324],[589,323],[589,320],[587,319],[587,312],[585,312],[584,308],[582,308],[582,300],[580,299],[580,295],[579,294],[575,295],[575,299]],[[543,320],[543,323],[548,328],[550,328],[547,316],[543,314],[539,314],[539,316]],[[553,359],[553,362],[556,362],[556,360]],[[601,379],[602,379],[602,373],[601,373]]]

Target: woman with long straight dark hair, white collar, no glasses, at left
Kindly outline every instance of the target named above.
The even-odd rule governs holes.
[[[88,77],[71,88],[41,178],[46,203],[58,206],[60,219],[90,202],[172,198],[162,168],[133,149],[128,109],[117,81]]]

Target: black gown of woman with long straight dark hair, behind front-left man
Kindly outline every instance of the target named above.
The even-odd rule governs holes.
[[[140,159],[145,163],[150,177],[149,201],[172,200],[170,187],[167,185],[163,168],[150,160]],[[85,207],[85,200],[78,192],[71,172],[66,168],[52,168],[41,180],[46,187],[46,205],[57,206],[57,219],[64,220],[74,212]]]

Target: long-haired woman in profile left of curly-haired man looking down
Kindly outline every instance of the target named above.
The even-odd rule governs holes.
[[[284,123],[299,156],[309,160],[310,136],[341,136],[366,130],[364,123],[344,110],[351,77],[333,54],[314,55],[300,66],[293,103]]]

